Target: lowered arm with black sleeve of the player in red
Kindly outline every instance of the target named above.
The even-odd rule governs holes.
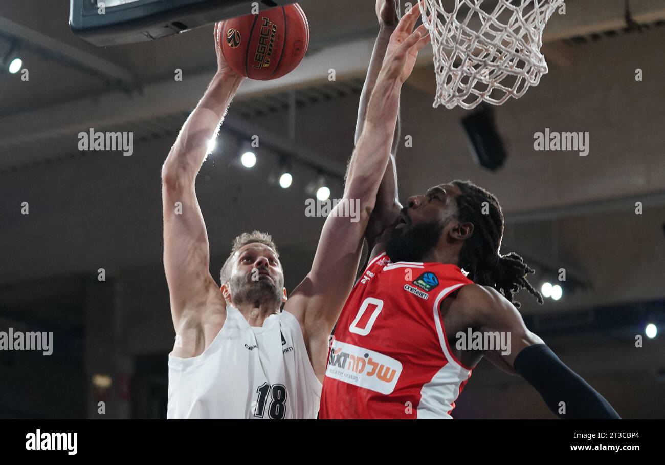
[[[520,374],[555,415],[562,419],[620,418],[597,390],[527,329],[517,308],[500,292],[477,285],[464,286],[462,290],[467,293],[464,298],[475,314],[479,331],[510,334],[509,354],[502,354],[499,348],[485,350],[483,356],[503,370]]]

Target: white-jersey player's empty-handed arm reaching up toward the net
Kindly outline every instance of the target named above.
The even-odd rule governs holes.
[[[326,220],[311,271],[285,304],[285,310],[301,322],[315,372],[321,378],[328,336],[352,288],[364,230],[388,164],[402,84],[411,74],[418,51],[429,40],[422,37],[424,28],[412,33],[416,19],[417,15],[405,15],[390,38],[349,163],[344,196]],[[344,205],[358,205],[358,215],[340,216]]]

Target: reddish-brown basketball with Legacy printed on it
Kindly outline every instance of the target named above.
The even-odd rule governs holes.
[[[224,58],[237,73],[270,81],[291,73],[309,45],[309,25],[297,3],[229,19],[221,26]]]

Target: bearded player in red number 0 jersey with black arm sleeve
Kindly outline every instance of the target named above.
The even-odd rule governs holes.
[[[386,37],[398,21],[394,0],[378,0],[377,13],[382,32],[356,134],[368,99],[377,98],[372,89]],[[386,109],[396,113],[398,106]],[[503,213],[491,193],[452,181],[409,197],[402,208],[394,160],[398,133],[386,135],[392,153],[366,230],[368,266],[336,324],[320,418],[452,418],[455,400],[483,356],[521,374],[560,418],[619,418],[526,328],[513,294],[526,289],[540,303],[542,296],[526,279],[533,270],[521,256],[499,253]],[[456,335],[469,328],[507,336],[508,349],[458,348]]]

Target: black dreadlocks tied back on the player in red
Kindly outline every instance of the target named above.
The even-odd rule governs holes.
[[[469,273],[469,279],[481,286],[492,286],[519,308],[513,294],[528,290],[539,304],[543,296],[527,280],[533,269],[524,259],[511,252],[499,254],[503,238],[503,212],[494,195],[470,181],[453,181],[462,191],[457,198],[458,218],[473,225],[473,233],[464,241],[460,251],[460,266]]]

